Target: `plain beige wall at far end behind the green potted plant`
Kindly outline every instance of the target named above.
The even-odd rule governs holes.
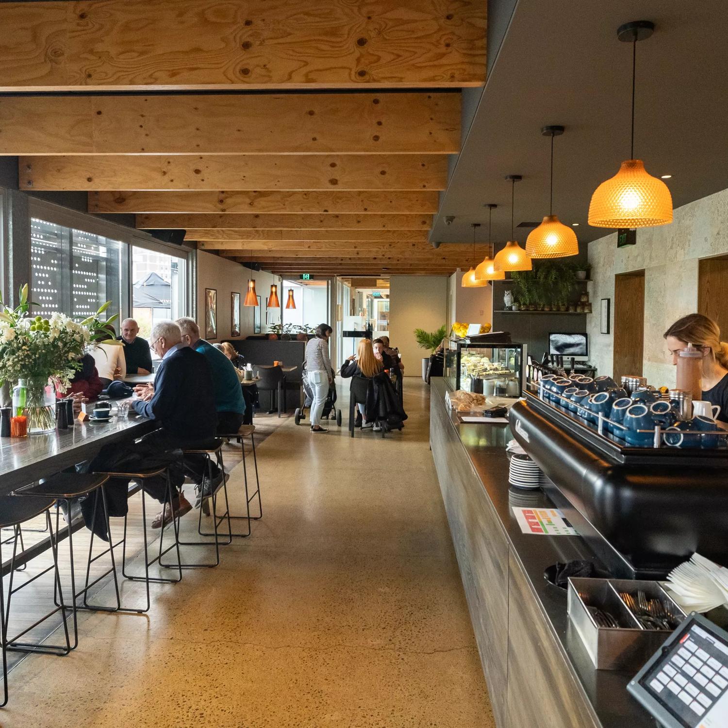
[[[445,276],[389,277],[389,341],[400,350],[405,376],[422,376],[420,362],[430,355],[417,346],[414,330],[446,324],[447,282]]]

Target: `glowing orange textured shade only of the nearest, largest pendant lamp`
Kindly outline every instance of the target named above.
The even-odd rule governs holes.
[[[647,173],[641,159],[622,162],[620,171],[597,187],[589,205],[589,224],[594,227],[652,227],[672,221],[670,190]]]

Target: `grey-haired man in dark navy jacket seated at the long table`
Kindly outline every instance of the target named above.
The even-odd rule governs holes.
[[[202,354],[183,345],[180,328],[173,321],[162,321],[151,333],[151,349],[162,358],[154,379],[154,387],[136,387],[138,400],[133,401],[135,411],[141,416],[159,422],[159,429],[150,432],[137,443],[104,446],[90,464],[91,472],[113,471],[119,464],[134,463],[136,467],[170,466],[175,513],[184,515],[191,503],[181,494],[184,480],[179,453],[182,448],[205,448],[215,440],[218,415],[215,411],[215,392],[210,365]],[[107,490],[123,488],[126,481],[109,480]],[[142,481],[146,492],[160,503],[165,501],[166,480],[147,478]],[[87,499],[92,500],[92,499]],[[152,521],[153,528],[172,521],[172,510],[159,513]],[[87,521],[88,523],[88,521]]]

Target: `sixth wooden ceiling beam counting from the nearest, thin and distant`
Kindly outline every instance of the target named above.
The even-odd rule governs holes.
[[[240,240],[427,242],[429,232],[428,230],[191,230],[185,235],[185,240],[197,240],[198,247],[205,250],[235,250]]]

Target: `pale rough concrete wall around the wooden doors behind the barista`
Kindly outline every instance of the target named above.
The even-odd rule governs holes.
[[[612,373],[614,355],[614,276],[644,270],[644,369],[655,387],[674,386],[675,368],[665,355],[662,333],[685,314],[697,311],[698,261],[728,253],[728,190],[675,210],[673,223],[638,229],[637,244],[617,248],[610,234],[589,244],[592,266],[587,316],[590,360],[599,373]],[[600,302],[611,301],[612,333],[600,333]],[[727,338],[728,332],[723,332]]]

